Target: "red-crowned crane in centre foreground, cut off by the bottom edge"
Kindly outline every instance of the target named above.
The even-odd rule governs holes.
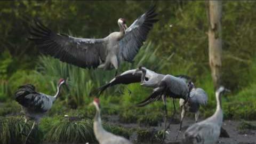
[[[103,129],[100,117],[100,100],[98,98],[94,98],[90,105],[94,105],[96,108],[96,114],[93,120],[93,130],[95,137],[100,144],[132,144],[124,137],[120,137]]]

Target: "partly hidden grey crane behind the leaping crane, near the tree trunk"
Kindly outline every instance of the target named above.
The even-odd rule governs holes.
[[[194,84],[193,84],[194,85]],[[195,85],[193,86],[192,90],[190,91],[190,97],[188,102],[185,104],[183,99],[180,99],[180,107],[181,107],[181,118],[180,118],[180,130],[183,122],[183,118],[186,115],[186,112],[195,113],[195,121],[197,123],[198,116],[199,116],[199,108],[200,105],[206,105],[208,101],[208,96],[206,92],[202,88],[196,88]],[[179,133],[176,137],[176,140],[179,136]]]

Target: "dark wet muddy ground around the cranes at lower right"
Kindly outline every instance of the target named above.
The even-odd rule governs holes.
[[[141,126],[139,124],[123,124],[119,123],[118,116],[109,116],[108,122],[110,124],[115,124],[127,128],[147,128],[147,129],[156,129],[156,130],[162,130],[164,127],[164,123],[159,124],[158,126]],[[169,121],[171,121],[169,119]],[[200,119],[202,121],[202,119]],[[166,140],[165,143],[179,143],[179,141],[182,140],[183,132],[187,129],[187,127],[191,124],[194,124],[195,121],[192,118],[186,117],[183,121],[183,129],[181,133],[179,134],[179,137],[177,139],[177,142],[175,142],[175,138],[177,135],[177,132],[179,131],[179,123],[177,121],[172,121],[172,124],[170,125],[170,129],[168,129],[168,133],[166,133]],[[250,121],[251,124],[256,125],[256,121]],[[256,144],[256,130],[247,130],[245,129],[243,132],[238,130],[238,126],[241,124],[241,121],[231,121],[226,120],[223,122],[222,127],[227,131],[230,138],[219,138],[219,143],[225,143],[225,144]],[[130,137],[130,141],[135,142],[136,141],[136,134],[133,133]]]

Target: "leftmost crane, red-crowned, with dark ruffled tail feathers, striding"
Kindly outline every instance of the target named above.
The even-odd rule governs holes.
[[[65,79],[61,78],[57,84],[57,93],[54,96],[47,95],[44,93],[39,93],[35,91],[35,86],[31,84],[26,84],[18,87],[15,92],[15,100],[22,106],[25,112],[25,124],[28,120],[34,120],[33,126],[27,135],[25,144],[29,138],[32,130],[34,130],[35,125],[38,125],[41,118],[52,108],[54,101],[60,95],[60,87],[66,84]],[[67,84],[66,84],[67,85]],[[21,133],[24,129],[21,130]]]

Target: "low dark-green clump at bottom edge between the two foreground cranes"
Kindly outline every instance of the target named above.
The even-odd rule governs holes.
[[[163,131],[137,129],[137,142],[160,142],[163,138]]]

